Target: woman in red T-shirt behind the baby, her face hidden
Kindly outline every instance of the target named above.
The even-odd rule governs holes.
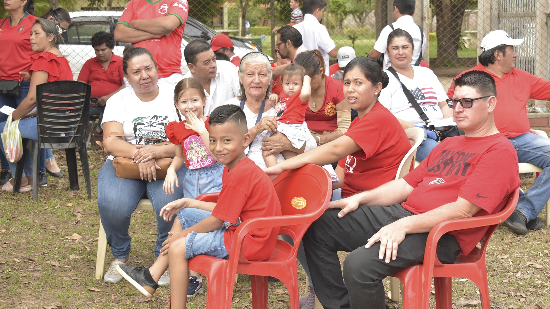
[[[301,52],[294,63],[306,69],[311,78],[311,98],[306,109],[307,128],[317,145],[327,144],[348,131],[351,109],[342,92],[342,82],[324,75],[324,59],[317,49]]]

